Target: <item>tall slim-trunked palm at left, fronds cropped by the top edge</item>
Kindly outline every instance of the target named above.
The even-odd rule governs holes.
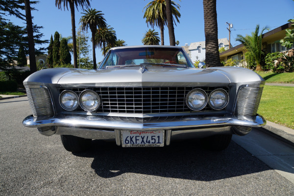
[[[72,32],[73,32],[73,66],[74,68],[77,68],[77,53],[76,53],[76,37],[75,37],[75,19],[74,19],[74,5],[76,9],[78,10],[78,6],[84,10],[85,8],[88,8],[90,6],[89,0],[55,0],[55,6],[58,7],[58,9],[62,9],[62,7],[67,10],[68,4],[71,9],[71,18],[72,18]]]

